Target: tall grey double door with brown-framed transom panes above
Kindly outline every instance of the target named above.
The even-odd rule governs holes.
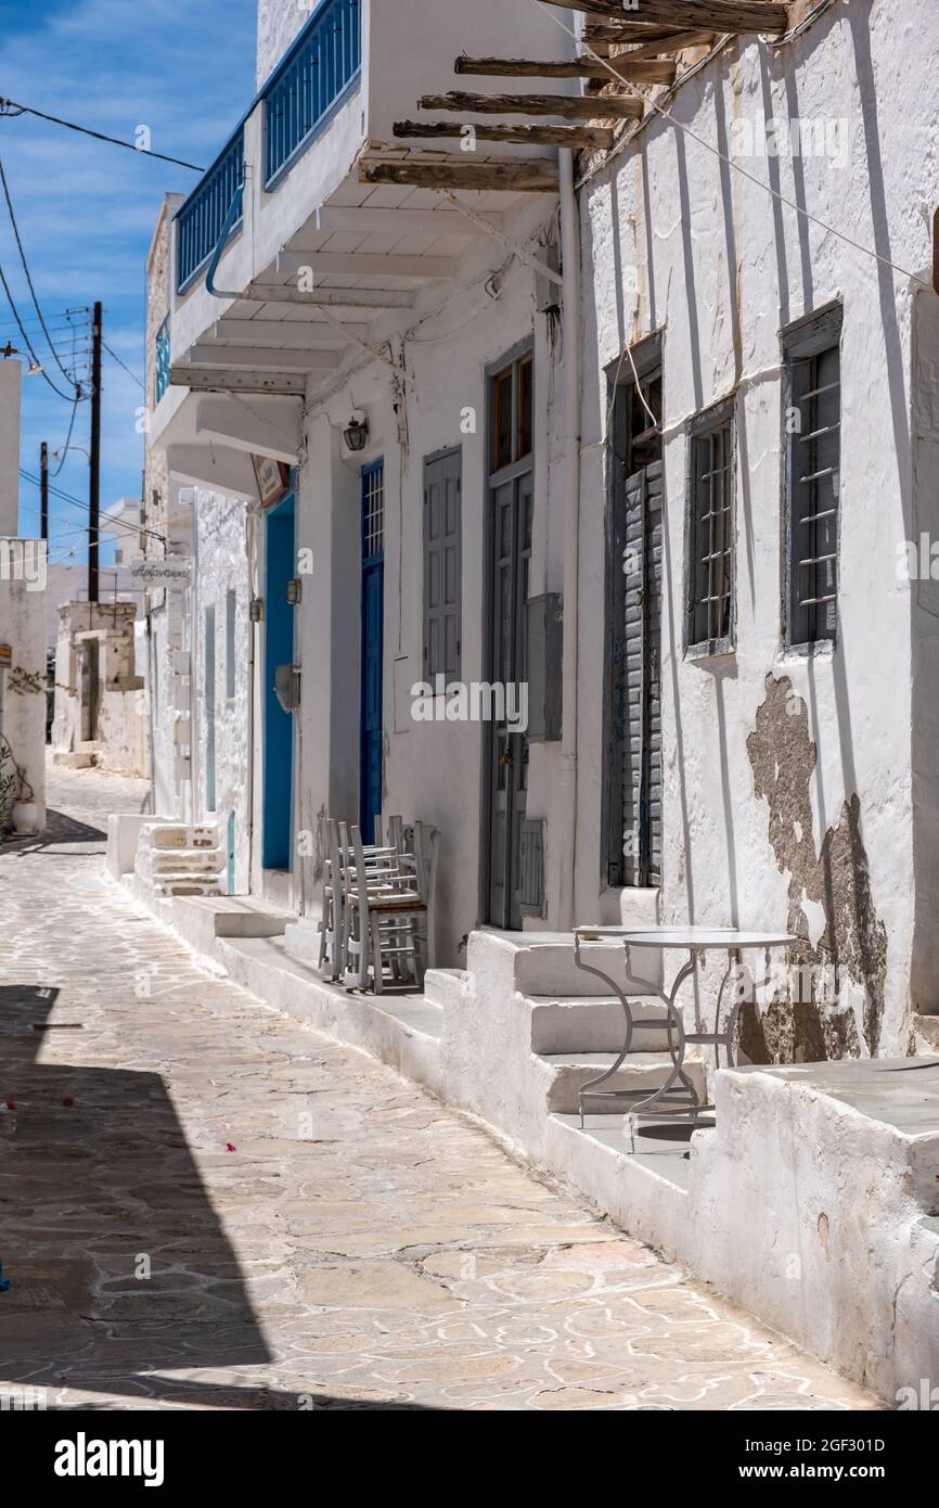
[[[526,603],[532,553],[534,365],[531,348],[506,359],[488,388],[488,591],[487,671],[502,688],[485,724],[484,920],[521,929],[520,832],[528,799],[528,734],[505,712],[511,686],[528,680]],[[515,700],[515,706],[517,706]],[[499,718],[502,712],[502,718]]]

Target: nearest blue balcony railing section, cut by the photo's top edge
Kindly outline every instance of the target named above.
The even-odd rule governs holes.
[[[323,0],[264,86],[264,182],[309,146],[362,65],[359,0]]]

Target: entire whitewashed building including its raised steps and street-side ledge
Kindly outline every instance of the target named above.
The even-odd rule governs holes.
[[[235,979],[898,1398],[939,1365],[939,15],[586,9],[262,8],[151,253],[157,810],[300,918]],[[285,959],[326,813],[442,835],[399,1018]],[[678,1152],[576,1114],[669,1071],[576,924],[794,939]],[[675,956],[630,968],[660,1009]]]

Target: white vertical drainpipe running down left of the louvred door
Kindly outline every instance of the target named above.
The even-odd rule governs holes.
[[[561,475],[564,478],[564,650],[561,661],[561,817],[558,847],[561,855],[559,923],[564,930],[576,924],[574,873],[577,858],[577,632],[580,567],[580,225],[574,193],[574,154],[562,148],[561,181],[561,255],[562,255],[562,338],[564,338],[564,418],[561,433]]]

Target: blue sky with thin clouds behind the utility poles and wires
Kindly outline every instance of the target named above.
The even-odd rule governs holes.
[[[0,0],[0,97],[133,140],[151,131],[157,152],[208,164],[255,93],[256,0]],[[104,339],[143,375],[145,259],[164,193],[188,192],[196,173],[140,152],[93,142],[33,116],[0,118],[0,160],[20,234],[53,339],[69,368],[63,311],[101,299]],[[65,388],[38,320],[0,199],[0,265],[33,345]],[[72,323],[87,320],[75,315]],[[36,333],[33,333],[36,332]],[[0,290],[0,347],[23,347]],[[140,496],[137,383],[106,353],[101,422],[101,507]],[[87,499],[90,404],[78,407],[72,443],[54,486]],[[20,464],[39,472],[39,443],[65,440],[69,404],[41,375],[23,382]],[[53,463],[53,466],[57,463]],[[86,514],[51,499],[51,559],[86,558]],[[39,490],[21,483],[20,529],[39,532]],[[69,550],[74,555],[69,556]],[[102,561],[112,549],[102,546]]]

